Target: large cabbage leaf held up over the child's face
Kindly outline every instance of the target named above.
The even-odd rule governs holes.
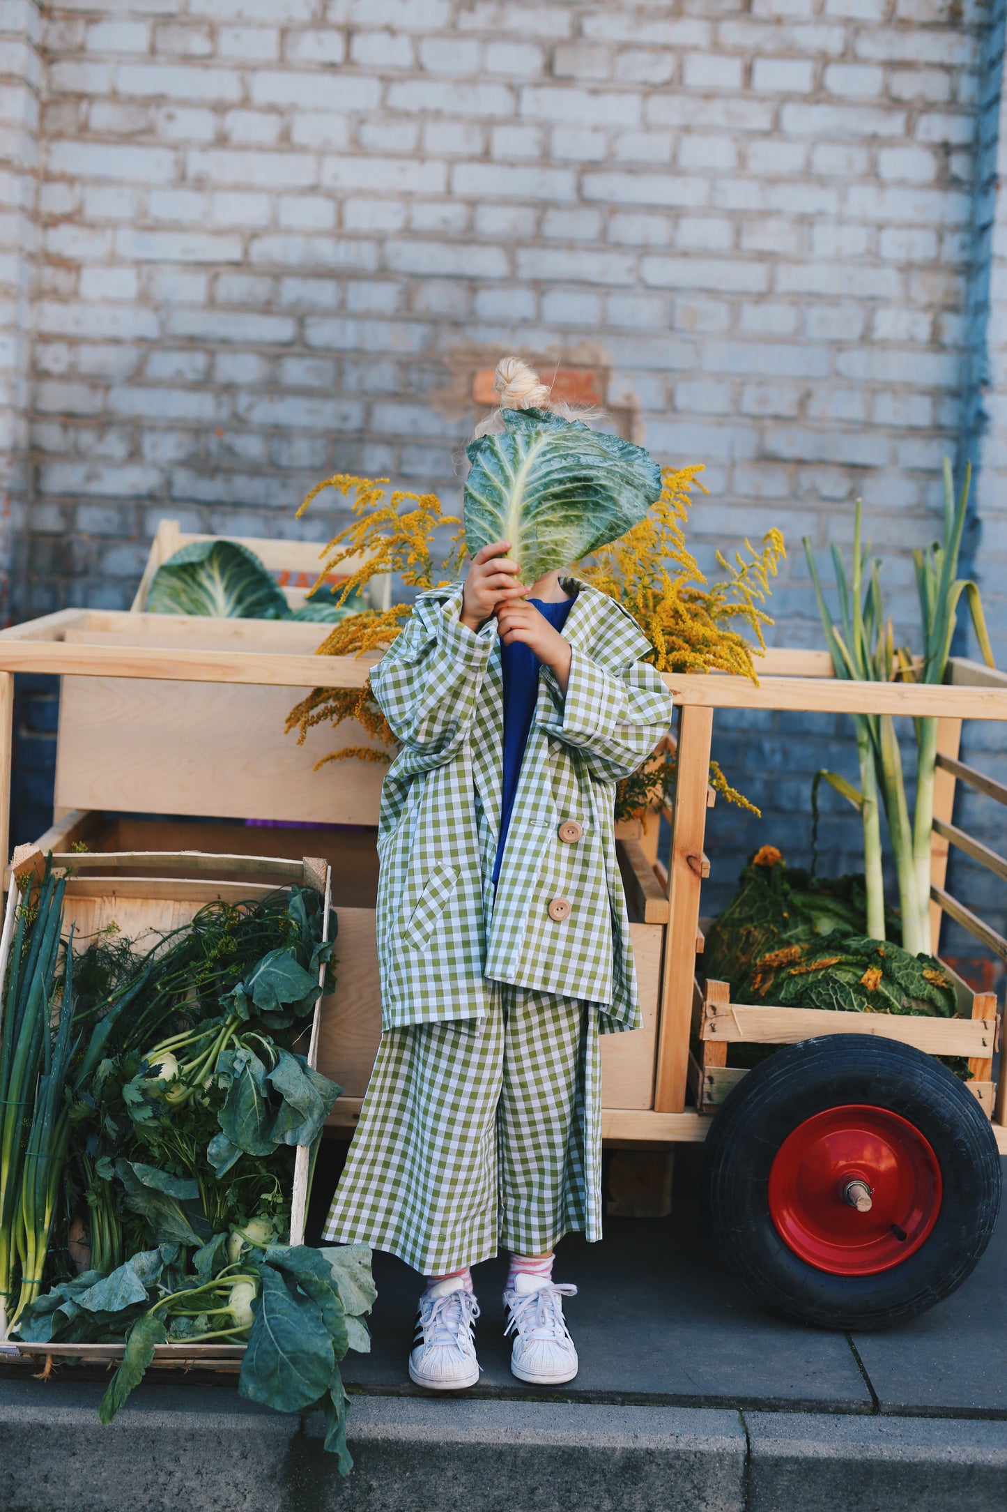
[[[510,541],[531,585],[637,525],[660,497],[661,470],[631,442],[548,410],[503,410],[504,431],[467,448],[465,544],[471,556]]]

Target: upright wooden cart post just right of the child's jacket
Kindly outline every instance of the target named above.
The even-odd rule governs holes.
[[[685,1107],[688,1022],[693,1007],[696,931],[702,888],[702,880],[693,871],[693,863],[702,857],[707,829],[707,774],[710,771],[711,733],[711,709],[685,708],[679,712],[669,880],[670,919],[664,943],[661,1034],[654,1087],[654,1107],[660,1113],[681,1113]]]

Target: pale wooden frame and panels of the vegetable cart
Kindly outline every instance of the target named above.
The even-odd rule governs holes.
[[[210,813],[222,821],[252,815],[308,823],[328,818],[358,827],[374,826],[382,770],[340,762],[325,768],[325,776],[314,774],[311,767],[319,751],[300,750],[293,736],[282,735],[276,720],[300,689],[317,685],[358,688],[370,671],[368,659],[309,655],[305,629],[317,640],[317,626],[282,621],[68,609],[2,632],[0,823],[6,823],[9,797],[14,673],[26,671],[65,679],[57,738],[57,813],[53,830],[39,841],[56,851],[69,850],[72,841],[119,853],[237,848],[234,824],[217,829],[201,824],[196,830],[195,824],[186,826],[186,815]],[[642,968],[645,1027],[636,1034],[605,1040],[604,1136],[621,1142],[702,1140],[710,1126],[705,1113],[713,1111],[726,1086],[737,1080],[726,1066],[731,1040],[790,1043],[823,1033],[867,1033],[898,1039],[932,1054],[968,1057],[974,1075],[969,1086],[992,1117],[1001,1149],[1007,1151],[1004,1081],[998,1092],[992,1078],[998,1036],[992,995],[972,993],[960,983],[962,1018],[950,1021],[823,1015],[731,1004],[723,984],[704,983],[696,975],[696,951],[702,947],[702,881],[708,871],[704,854],[711,798],[707,776],[713,718],[719,708],[936,715],[941,754],[932,851],[933,942],[936,945],[941,913],[947,912],[1007,959],[1007,942],[944,888],[951,844],[1007,877],[1007,860],[951,823],[957,780],[993,801],[1007,801],[1007,788],[957,759],[963,720],[1007,720],[1007,677],[953,661],[951,682],[942,686],[856,683],[836,680],[829,658],[818,652],[768,652],[758,665],[758,686],[720,674],[669,673],[664,679],[678,706],[670,868],[666,874],[657,863],[655,823],[646,835],[622,827],[621,866]],[[226,708],[223,745],[220,723],[199,729],[186,712],[195,705],[204,712],[211,706]],[[249,738],[251,730],[254,738]],[[319,733],[331,741],[331,732]],[[189,764],[180,771],[175,756],[184,754],[183,747],[193,741],[201,744],[195,753],[189,750]],[[255,761],[249,758],[234,770],[233,751],[240,741],[248,744]],[[149,751],[156,761],[145,754]],[[198,756],[199,780],[192,777],[193,756]],[[115,810],[177,815],[172,844],[159,842],[157,821],[121,820]],[[252,832],[248,833],[251,839]],[[264,835],[260,830],[249,848],[258,848]],[[322,1069],[347,1087],[334,1116],[334,1126],[346,1129],[352,1128],[359,1110],[379,1034],[373,907],[359,906],[370,900],[361,900],[352,875],[362,865],[373,872],[373,844],[361,829],[332,832],[328,844],[328,859],[335,854],[337,860],[334,906],[340,915],[340,974],[334,998],[323,1005],[319,1057]],[[8,850],[2,832],[0,848]],[[319,851],[314,835],[309,848]]]

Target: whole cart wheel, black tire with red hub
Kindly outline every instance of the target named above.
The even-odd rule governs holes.
[[[713,1120],[707,1219],[725,1264],[800,1323],[879,1329],[962,1285],[999,1213],[996,1139],[922,1051],[868,1034],[790,1045]]]

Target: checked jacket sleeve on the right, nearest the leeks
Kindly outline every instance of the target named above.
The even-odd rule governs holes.
[[[607,670],[572,647],[566,697],[548,667],[542,679],[553,705],[542,727],[583,751],[601,782],[634,773],[672,726],[672,696],[649,662]]]

